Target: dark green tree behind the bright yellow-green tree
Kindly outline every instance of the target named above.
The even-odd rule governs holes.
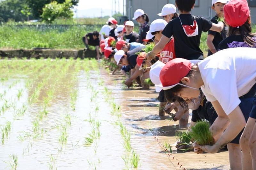
[[[32,14],[39,18],[43,14],[43,8],[46,4],[49,4],[52,2],[52,0],[26,0],[28,7],[32,9]],[[65,0],[56,0],[57,3],[63,4]],[[76,6],[78,4],[79,0],[71,0],[72,7]]]

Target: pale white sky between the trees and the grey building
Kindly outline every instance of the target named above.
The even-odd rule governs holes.
[[[77,9],[80,15],[82,13],[83,16],[100,17],[101,13],[99,11],[101,9],[103,11],[103,16],[105,16],[105,15],[111,15],[112,13],[111,11],[113,8],[113,15],[114,15],[115,1],[116,1],[116,12],[120,11],[121,13],[123,13],[123,0],[79,0],[78,6],[75,7],[75,9]],[[95,13],[92,14],[90,9],[98,9],[98,10],[95,10]],[[76,14],[74,16],[76,16]]]

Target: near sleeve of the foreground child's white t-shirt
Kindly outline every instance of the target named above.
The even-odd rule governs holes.
[[[229,115],[241,102],[237,92],[236,70],[215,68],[212,69],[211,75],[208,75],[208,77],[211,77],[210,80],[208,79],[207,85],[212,96],[216,98],[225,113]],[[207,97],[207,94],[205,96]],[[207,99],[211,101],[214,98],[210,95]]]

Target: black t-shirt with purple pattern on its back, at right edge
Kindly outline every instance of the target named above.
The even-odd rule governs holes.
[[[241,35],[231,35],[226,39],[223,39],[219,46],[217,47],[217,51],[224,50],[227,48],[236,48],[236,47],[252,47],[244,42],[244,39]],[[253,46],[256,48],[256,46]]]

